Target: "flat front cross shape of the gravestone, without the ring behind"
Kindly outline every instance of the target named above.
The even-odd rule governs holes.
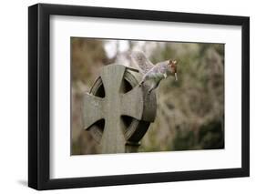
[[[126,66],[109,65],[103,67],[100,78],[105,97],[96,97],[89,93],[84,97],[84,128],[90,128],[101,119],[105,121],[100,141],[103,153],[124,152],[127,126],[121,119],[122,116],[137,120],[145,119],[143,117],[145,92],[143,92],[142,87],[138,86],[127,91],[124,79],[125,72]]]

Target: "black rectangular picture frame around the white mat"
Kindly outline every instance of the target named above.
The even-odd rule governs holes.
[[[50,179],[50,15],[91,16],[241,26],[241,168],[205,169],[118,176]],[[28,7],[28,186],[34,189],[154,183],[250,176],[250,18],[78,5],[37,4]]]

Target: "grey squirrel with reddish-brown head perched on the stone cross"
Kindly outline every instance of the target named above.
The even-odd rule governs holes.
[[[141,51],[134,51],[131,53],[131,59],[135,62],[140,71],[144,74],[139,87],[141,87],[146,81],[150,81],[151,87],[148,90],[148,94],[155,88],[159,87],[159,83],[162,79],[174,76],[175,80],[178,80],[177,76],[177,61],[167,60],[157,63],[155,66],[149,61],[148,57]]]

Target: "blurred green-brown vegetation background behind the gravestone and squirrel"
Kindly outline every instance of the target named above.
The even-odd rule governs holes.
[[[224,148],[224,45],[71,38],[72,154],[95,154],[97,143],[82,128],[81,99],[113,62],[130,65],[143,50],[153,63],[176,59],[179,81],[161,81],[157,117],[140,152]]]

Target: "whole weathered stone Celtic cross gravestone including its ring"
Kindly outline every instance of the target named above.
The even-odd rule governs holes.
[[[138,87],[142,75],[121,65],[102,68],[83,99],[84,128],[100,144],[102,153],[137,152],[139,140],[156,117],[156,94]]]

